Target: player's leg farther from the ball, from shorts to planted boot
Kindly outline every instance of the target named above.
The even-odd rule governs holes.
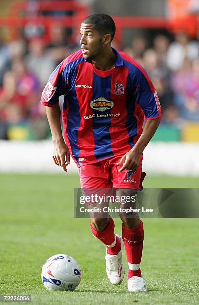
[[[137,189],[140,188],[140,182],[141,180],[141,171],[142,171],[142,155],[140,157],[140,163],[138,168],[135,171],[132,170],[124,170],[123,172],[118,172],[119,166],[116,165],[118,160],[120,160],[121,156],[115,157],[114,160],[112,160],[112,182],[113,187],[117,188],[117,195],[125,196],[130,195],[134,196],[137,192]],[[144,178],[145,174],[142,175],[142,178]],[[126,193],[130,189],[130,194]],[[120,207],[120,205],[119,205]],[[123,205],[121,205],[123,207]],[[126,203],[127,207],[127,203]],[[129,202],[129,208],[130,207],[136,207],[133,202]],[[122,238],[124,241],[127,261],[128,261],[128,289],[130,291],[136,291],[136,290],[142,290],[140,289],[139,281],[141,281],[141,284],[144,284],[145,282],[142,279],[141,269],[140,269],[140,263],[142,258],[142,249],[143,249],[143,239],[144,239],[144,230],[143,230],[143,223],[139,219],[138,215],[133,213],[132,215],[126,215],[123,213],[120,213],[120,217],[122,219]],[[134,280],[138,282],[137,287],[134,285]],[[133,282],[132,282],[133,281]],[[132,282],[132,283],[130,283]],[[132,284],[132,285],[131,285]],[[143,288],[143,291],[145,291],[146,288]]]

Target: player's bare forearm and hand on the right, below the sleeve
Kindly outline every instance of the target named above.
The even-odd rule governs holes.
[[[117,165],[122,165],[118,171],[123,171],[124,169],[135,170],[138,167],[140,155],[155,134],[160,124],[160,120],[160,118],[157,118],[146,121],[143,132],[134,147],[121,158],[119,163],[117,163]]]

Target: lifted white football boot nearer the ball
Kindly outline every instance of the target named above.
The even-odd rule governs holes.
[[[106,248],[106,273],[111,284],[119,285],[124,279],[124,266],[122,264],[122,250],[124,247],[124,242],[122,236],[115,234],[121,243],[120,252],[116,255],[110,255]]]

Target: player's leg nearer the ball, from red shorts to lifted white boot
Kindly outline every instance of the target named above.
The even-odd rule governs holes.
[[[105,170],[105,162],[82,166],[79,170],[81,187],[86,193],[92,194],[95,189],[103,192],[112,187],[109,173]],[[98,207],[94,203],[89,207]],[[124,278],[124,267],[122,265],[123,241],[120,236],[114,233],[114,221],[107,213],[100,217],[100,213],[91,213],[90,228],[93,235],[106,245],[106,271],[112,284],[118,285]]]

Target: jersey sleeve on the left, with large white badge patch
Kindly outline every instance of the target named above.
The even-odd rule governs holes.
[[[59,103],[59,97],[66,93],[67,76],[66,69],[61,63],[50,75],[41,94],[41,104],[44,106],[55,106]]]

